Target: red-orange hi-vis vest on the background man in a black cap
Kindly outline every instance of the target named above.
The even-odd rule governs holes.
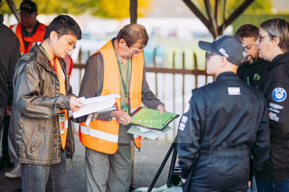
[[[15,24],[15,25],[10,25],[10,29],[12,29],[12,31],[16,34],[16,36],[19,39],[21,55],[23,53],[28,53],[30,51],[30,47],[31,47],[32,42],[37,42],[37,41],[43,42],[44,34],[46,32],[45,27],[46,26],[44,24],[40,23],[40,25],[36,29],[35,33],[31,37],[24,37],[23,38],[23,35],[22,35],[22,23],[18,23],[18,24]],[[28,44],[26,49],[25,49],[24,41],[29,42],[29,44]]]

